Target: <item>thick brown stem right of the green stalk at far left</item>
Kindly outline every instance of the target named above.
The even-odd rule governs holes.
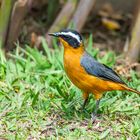
[[[33,0],[16,1],[13,11],[12,11],[11,22],[9,26],[9,33],[8,33],[7,42],[6,42],[6,50],[13,48],[14,42],[16,41],[19,35],[23,18],[26,16],[28,11],[30,10],[32,2]]]

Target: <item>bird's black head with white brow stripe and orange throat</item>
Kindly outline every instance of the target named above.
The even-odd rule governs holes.
[[[72,47],[73,49],[83,47],[82,37],[75,30],[65,29],[60,32],[49,33],[49,35],[58,37],[60,42],[62,42],[62,44],[64,45],[64,47]]]

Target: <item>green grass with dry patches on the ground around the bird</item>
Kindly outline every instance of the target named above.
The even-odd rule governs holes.
[[[88,51],[99,61],[113,66],[116,56],[99,50]],[[113,91],[104,95],[99,121],[91,123],[95,100],[90,97],[82,111],[82,94],[63,70],[63,49],[54,43],[43,52],[18,47],[0,63],[0,139],[111,139],[138,140],[140,137],[140,97],[130,92]],[[131,71],[131,87],[140,90],[138,75]]]

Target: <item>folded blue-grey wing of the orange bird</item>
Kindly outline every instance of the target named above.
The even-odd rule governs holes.
[[[115,71],[113,71],[108,66],[97,62],[87,52],[85,52],[81,58],[81,66],[90,75],[96,76],[104,80],[125,84]]]

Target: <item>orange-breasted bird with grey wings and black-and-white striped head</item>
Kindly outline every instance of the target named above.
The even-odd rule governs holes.
[[[98,62],[86,51],[83,38],[78,31],[63,29],[49,35],[57,37],[64,47],[64,70],[71,82],[83,92],[83,109],[89,94],[94,95],[96,104],[91,114],[93,123],[97,118],[100,100],[105,92],[126,90],[140,94],[139,91],[128,87],[112,68]]]

